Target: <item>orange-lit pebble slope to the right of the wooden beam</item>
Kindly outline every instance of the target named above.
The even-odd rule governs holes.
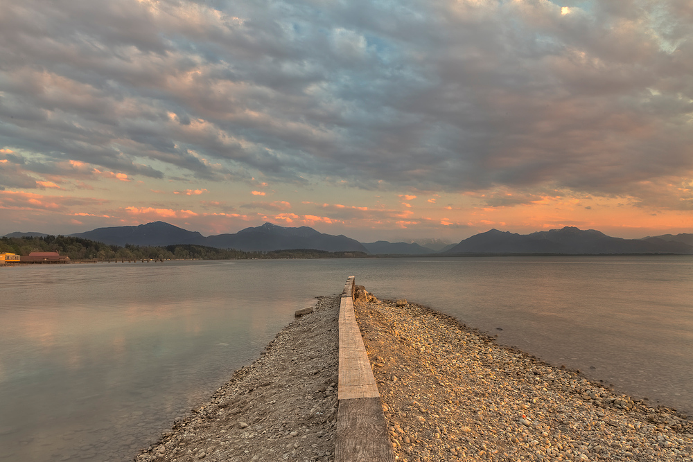
[[[355,308],[371,365],[378,358],[390,436],[403,429],[410,441],[393,446],[398,462],[693,462],[687,416],[498,346],[446,314],[397,305]]]

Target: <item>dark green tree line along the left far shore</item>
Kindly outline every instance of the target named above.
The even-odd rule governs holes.
[[[278,251],[242,251],[217,249],[204,245],[180,244],[151,247],[126,244],[107,245],[103,242],[72,236],[0,238],[0,254],[28,255],[31,252],[58,252],[70,260],[248,260],[256,258],[362,258],[363,252],[328,252],[313,249]]]

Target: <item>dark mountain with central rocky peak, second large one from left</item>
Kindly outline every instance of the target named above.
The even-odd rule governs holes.
[[[340,234],[333,236],[315,231],[308,226],[285,228],[277,224],[265,223],[262,226],[246,228],[235,234],[219,234],[209,236],[207,243],[210,247],[221,249],[253,250],[285,250],[285,249],[315,249],[329,252],[360,251],[367,252],[358,240],[347,238]]]

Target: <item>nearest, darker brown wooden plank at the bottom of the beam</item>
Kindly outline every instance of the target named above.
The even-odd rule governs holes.
[[[340,400],[335,462],[392,462],[387,423],[380,398]]]

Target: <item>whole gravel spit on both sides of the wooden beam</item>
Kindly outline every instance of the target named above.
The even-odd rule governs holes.
[[[693,461],[693,423],[674,409],[498,346],[430,308],[356,294],[398,461]],[[319,297],[134,460],[333,461],[338,310],[338,296]]]

